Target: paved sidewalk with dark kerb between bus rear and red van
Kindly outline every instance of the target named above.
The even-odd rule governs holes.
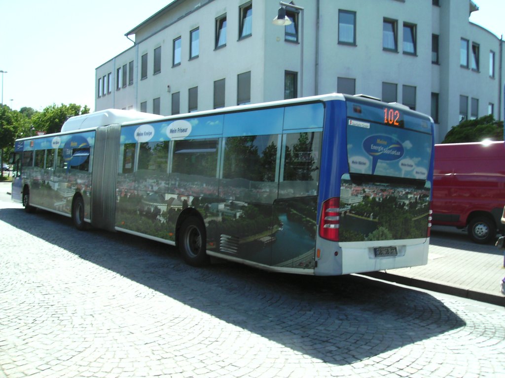
[[[505,306],[501,280],[503,249],[476,244],[466,232],[434,226],[428,265],[374,272],[368,276]]]

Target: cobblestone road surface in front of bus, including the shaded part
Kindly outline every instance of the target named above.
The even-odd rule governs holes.
[[[363,276],[197,269],[0,198],[0,377],[505,374],[502,307]]]

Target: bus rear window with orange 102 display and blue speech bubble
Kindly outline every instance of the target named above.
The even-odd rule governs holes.
[[[347,104],[349,172],[426,180],[432,149],[428,117],[390,104]]]

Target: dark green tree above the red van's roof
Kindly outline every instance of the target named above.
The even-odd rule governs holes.
[[[503,121],[495,120],[492,114],[461,122],[449,130],[442,143],[481,142],[484,139],[503,140]]]

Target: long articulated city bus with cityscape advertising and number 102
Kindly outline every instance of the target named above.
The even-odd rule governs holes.
[[[430,117],[342,94],[131,114],[18,140],[13,199],[79,230],[176,245],[194,266],[340,275],[427,263]]]

